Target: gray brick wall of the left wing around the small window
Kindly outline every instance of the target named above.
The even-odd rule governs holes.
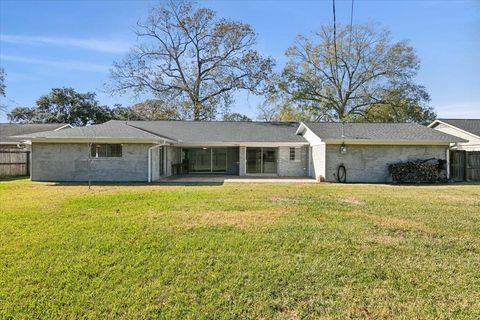
[[[123,144],[121,158],[91,161],[92,181],[147,181],[151,144]],[[32,180],[88,181],[88,144],[33,143]]]

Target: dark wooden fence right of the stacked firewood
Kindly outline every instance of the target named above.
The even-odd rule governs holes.
[[[454,181],[480,181],[480,151],[451,151],[450,178]]]

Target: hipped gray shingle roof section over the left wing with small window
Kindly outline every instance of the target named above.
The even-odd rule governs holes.
[[[143,130],[126,125],[124,121],[109,121],[86,127],[76,127],[59,131],[48,131],[21,136],[23,138],[50,138],[50,139],[138,139],[158,140],[153,135]]]

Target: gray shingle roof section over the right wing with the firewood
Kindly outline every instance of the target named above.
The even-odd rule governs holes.
[[[307,122],[305,125],[322,140],[341,140],[342,124]],[[415,123],[345,123],[345,140],[438,141],[459,142],[463,139]]]

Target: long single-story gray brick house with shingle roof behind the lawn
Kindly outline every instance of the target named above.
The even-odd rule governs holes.
[[[32,180],[158,181],[189,175],[386,182],[389,163],[448,160],[464,141],[417,124],[109,121],[25,135]]]

